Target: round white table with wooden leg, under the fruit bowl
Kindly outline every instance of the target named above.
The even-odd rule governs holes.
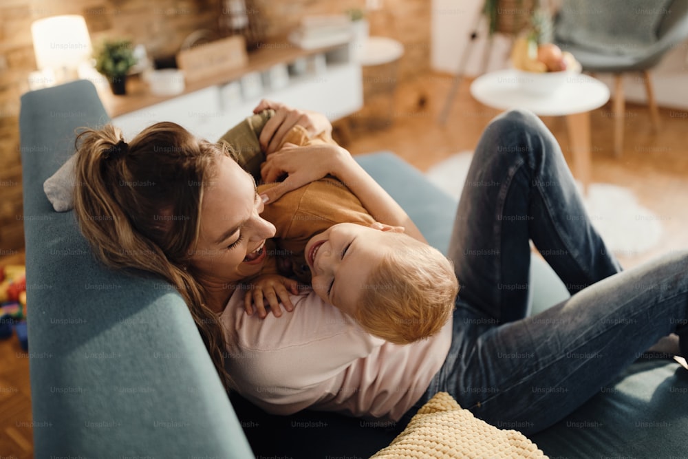
[[[588,191],[592,169],[590,145],[590,111],[609,100],[608,87],[583,74],[572,74],[552,94],[524,93],[515,70],[500,70],[475,78],[471,95],[480,103],[496,109],[522,108],[538,116],[566,116],[574,175]]]

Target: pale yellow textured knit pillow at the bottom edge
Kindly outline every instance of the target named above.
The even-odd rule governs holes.
[[[515,430],[501,430],[475,418],[447,394],[431,398],[391,445],[371,459],[547,458]]]

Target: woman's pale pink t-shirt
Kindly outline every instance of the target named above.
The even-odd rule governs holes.
[[[310,408],[397,421],[425,392],[451,344],[451,320],[429,339],[396,345],[364,332],[314,292],[292,303],[293,312],[259,319],[246,314],[237,290],[220,315],[236,333],[225,365],[237,392],[273,414]]]

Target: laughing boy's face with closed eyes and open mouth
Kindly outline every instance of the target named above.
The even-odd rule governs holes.
[[[305,261],[316,294],[343,312],[353,315],[361,290],[372,270],[391,249],[385,231],[353,223],[341,223],[310,238]]]

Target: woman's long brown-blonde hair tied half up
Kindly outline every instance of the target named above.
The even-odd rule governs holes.
[[[173,122],[147,127],[129,145],[112,125],[85,129],[76,151],[74,209],[94,253],[107,266],[153,273],[178,290],[228,389],[224,330],[188,262],[200,228],[202,184],[215,173],[217,158],[230,153]]]

